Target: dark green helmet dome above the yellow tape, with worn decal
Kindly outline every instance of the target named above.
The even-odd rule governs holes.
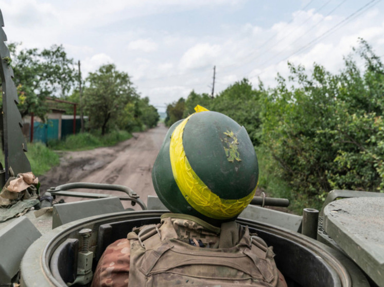
[[[183,133],[185,155],[199,178],[222,199],[248,196],[258,165],[247,130],[215,111],[194,114]]]

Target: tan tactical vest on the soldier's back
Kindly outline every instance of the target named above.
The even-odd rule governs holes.
[[[235,222],[224,225],[222,229],[239,232]],[[277,285],[272,247],[251,236],[248,227],[238,244],[225,248],[197,247],[178,240],[171,218],[138,228],[127,238],[131,245],[129,287]]]

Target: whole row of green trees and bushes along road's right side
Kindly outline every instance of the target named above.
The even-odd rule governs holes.
[[[259,159],[259,187],[288,197],[297,212],[320,208],[332,189],[384,192],[380,58],[360,40],[337,74],[316,63],[310,71],[288,66],[288,79],[277,74],[273,88],[243,79],[214,98],[191,91],[168,105],[165,123],[187,117],[199,104],[245,126]]]

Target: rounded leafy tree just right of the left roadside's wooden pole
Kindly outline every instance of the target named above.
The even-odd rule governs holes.
[[[116,70],[115,65],[101,66],[86,78],[88,86],[84,89],[84,111],[89,116],[91,129],[107,132],[109,126],[116,124],[116,119],[133,99],[138,98],[130,77],[125,72]]]

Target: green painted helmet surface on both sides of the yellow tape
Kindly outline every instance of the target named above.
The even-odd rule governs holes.
[[[156,194],[174,213],[190,214],[212,224],[220,224],[221,220],[204,216],[190,206],[174,181],[169,145],[174,129],[181,122],[182,120],[169,128],[154,162],[152,181]],[[235,140],[239,144],[236,145],[237,153],[232,152],[235,154],[232,156],[241,161],[231,161],[231,152],[227,156],[225,151]],[[249,195],[256,187],[258,166],[252,142],[245,128],[224,114],[204,111],[190,117],[184,128],[183,146],[195,173],[220,198],[240,199]]]

